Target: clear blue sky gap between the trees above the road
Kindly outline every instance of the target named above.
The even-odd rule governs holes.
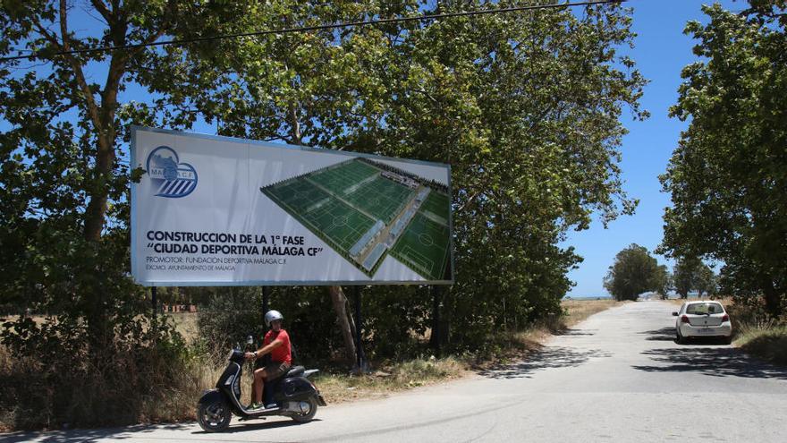
[[[635,122],[624,113],[622,123],[629,130],[623,138],[622,178],[623,189],[630,197],[639,199],[633,216],[619,217],[605,229],[596,222],[590,229],[571,232],[563,246],[573,246],[585,260],[569,277],[576,283],[571,297],[605,296],[603,278],[614,256],[630,243],[654,251],[662,240],[664,208],[670,205],[670,196],[661,192],[658,175],[666,170],[667,162],[677,146],[681,130],[687,124],[669,118],[669,107],[678,98],[681,69],[698,59],[691,48],[696,40],[683,35],[687,21],[707,22],[701,11],[700,0],[629,0],[633,8],[633,30],[638,34],[634,49],[627,53],[637,62],[637,67],[650,83],[641,98],[641,104],[651,116],[644,122]],[[725,0],[718,2],[724,9],[740,11],[744,2]],[[660,264],[672,270],[673,261],[656,256]]]

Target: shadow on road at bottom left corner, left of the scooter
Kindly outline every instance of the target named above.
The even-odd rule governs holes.
[[[30,434],[28,432],[18,432],[13,434],[6,434],[0,437],[2,443],[16,443],[22,441],[30,441],[30,439],[38,439],[38,441],[46,443],[77,443],[77,442],[90,442],[100,439],[123,440],[139,439],[144,436],[146,432],[153,432],[156,430],[185,430],[190,428],[190,423],[170,423],[161,424],[156,426],[149,425],[135,425],[126,428],[106,428],[99,430],[55,430],[52,432],[44,432]]]

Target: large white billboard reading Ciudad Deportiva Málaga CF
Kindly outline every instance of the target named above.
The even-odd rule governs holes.
[[[140,285],[453,283],[450,167],[131,128]]]

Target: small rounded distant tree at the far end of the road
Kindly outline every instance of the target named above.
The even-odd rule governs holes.
[[[615,255],[614,264],[604,278],[604,287],[615,300],[637,300],[639,294],[666,292],[667,270],[659,265],[644,246],[631,243]]]

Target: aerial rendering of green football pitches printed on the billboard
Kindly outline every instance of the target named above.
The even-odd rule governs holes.
[[[443,183],[351,158],[260,191],[368,277],[390,254],[427,281],[451,280]]]

